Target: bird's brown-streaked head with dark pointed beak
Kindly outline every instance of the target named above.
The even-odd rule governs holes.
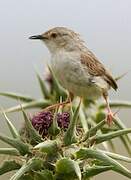
[[[79,34],[65,27],[55,27],[41,35],[31,36],[29,39],[42,40],[51,53],[61,48],[73,50],[82,42]]]

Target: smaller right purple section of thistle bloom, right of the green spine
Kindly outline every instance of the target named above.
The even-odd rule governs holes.
[[[68,112],[58,113],[57,123],[61,129],[67,129],[70,123],[70,114]]]

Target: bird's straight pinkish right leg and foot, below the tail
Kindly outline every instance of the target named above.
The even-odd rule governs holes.
[[[111,126],[112,124],[112,121],[113,121],[113,118],[114,118],[114,114],[112,113],[111,111],[111,108],[110,108],[110,104],[109,104],[109,101],[108,101],[108,95],[106,93],[103,93],[103,97],[106,101],[106,106],[107,106],[107,124],[109,126]]]

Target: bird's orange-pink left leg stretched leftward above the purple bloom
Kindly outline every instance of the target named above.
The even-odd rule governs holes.
[[[66,101],[48,106],[48,107],[42,109],[42,111],[51,111],[51,110],[54,110],[55,108],[58,108],[59,106],[64,106],[66,104],[70,104],[72,102],[73,98],[74,98],[74,95],[69,92],[69,95],[68,95]]]

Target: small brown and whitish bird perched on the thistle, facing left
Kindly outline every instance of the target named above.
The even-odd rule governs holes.
[[[110,88],[116,91],[118,85],[81,36],[67,27],[54,27],[29,39],[39,39],[47,46],[51,54],[51,68],[70,95],[91,100],[105,99],[107,123],[111,125],[114,114],[108,91]]]

